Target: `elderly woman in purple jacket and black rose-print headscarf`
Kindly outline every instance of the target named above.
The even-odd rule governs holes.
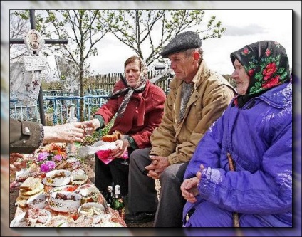
[[[238,96],[184,174],[186,227],[292,226],[292,84],[276,41],[231,53]]]

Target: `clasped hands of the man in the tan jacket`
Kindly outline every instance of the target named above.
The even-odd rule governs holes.
[[[162,174],[170,163],[168,162],[167,157],[150,156],[150,159],[152,159],[151,164],[145,167],[145,169],[149,171],[147,176],[151,177],[152,179],[158,179],[160,174]]]

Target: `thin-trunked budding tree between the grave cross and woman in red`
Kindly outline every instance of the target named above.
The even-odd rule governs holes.
[[[46,10],[41,31],[49,38],[67,38],[68,45],[55,45],[52,48],[64,58],[73,61],[78,67],[80,96],[83,97],[83,78],[86,60],[89,56],[98,55],[96,44],[108,33],[106,23],[99,21],[104,11],[100,10]],[[83,100],[80,101],[80,120],[84,120]]]

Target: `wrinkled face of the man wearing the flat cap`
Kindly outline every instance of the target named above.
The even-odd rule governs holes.
[[[196,68],[196,61],[193,54],[187,56],[184,52],[173,53],[169,56],[170,68],[175,72],[177,80],[189,82],[193,79]]]

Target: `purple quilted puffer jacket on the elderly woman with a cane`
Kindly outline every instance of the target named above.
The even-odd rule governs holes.
[[[241,227],[291,227],[292,85],[278,85],[241,109],[231,104],[184,174],[195,177],[204,164],[197,202],[184,206],[184,226],[232,227],[236,211]],[[236,172],[229,171],[228,152]]]

